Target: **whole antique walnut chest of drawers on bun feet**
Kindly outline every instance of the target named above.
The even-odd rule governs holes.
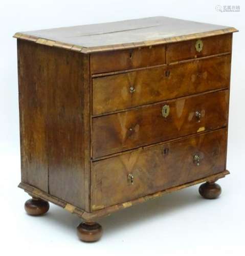
[[[21,183],[95,221],[190,185],[216,198],[226,170],[230,27],[152,17],[16,33]]]

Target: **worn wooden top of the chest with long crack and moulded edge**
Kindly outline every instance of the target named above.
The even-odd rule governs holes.
[[[236,32],[232,27],[169,17],[148,17],[102,24],[15,33],[14,37],[83,53],[166,44]]]

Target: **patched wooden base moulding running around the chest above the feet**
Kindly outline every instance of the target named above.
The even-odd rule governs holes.
[[[147,196],[144,196],[144,197],[132,200],[132,201],[128,201],[128,202],[120,203],[120,204],[117,204],[117,205],[109,206],[107,208],[103,208],[103,209],[93,211],[93,212],[86,212],[83,209],[80,209],[80,208],[78,208],[78,207],[76,207],[72,204],[69,204],[69,203],[67,203],[67,202],[65,202],[65,201],[63,201],[63,200],[61,200],[57,197],[54,197],[54,196],[52,196],[52,195],[34,187],[34,186],[31,186],[31,185],[29,185],[25,182],[20,182],[18,187],[24,189],[32,197],[37,197],[37,198],[40,198],[42,200],[54,203],[58,206],[61,206],[65,210],[68,210],[72,214],[76,214],[77,216],[84,219],[85,221],[91,221],[91,220],[97,219],[99,217],[110,215],[113,212],[118,211],[120,209],[124,209],[124,208],[130,207],[130,206],[138,204],[138,203],[143,203],[147,200],[151,200],[151,199],[161,197],[164,194],[168,194],[168,193],[171,193],[173,191],[183,189],[185,187],[189,187],[189,186],[196,185],[196,184],[203,183],[203,182],[207,182],[207,181],[215,182],[216,180],[218,180],[220,178],[224,178],[228,174],[230,174],[229,171],[225,170],[224,172],[221,172],[221,173],[218,173],[218,174],[214,174],[214,175],[202,178],[202,179],[198,179],[198,180],[195,180],[195,181],[192,181],[192,182],[188,182],[188,183],[185,183],[183,185],[171,187],[171,188],[168,188],[168,189],[165,189],[165,190],[162,190],[162,191],[158,191],[157,193],[154,193],[154,194],[150,194],[150,195],[147,195]]]

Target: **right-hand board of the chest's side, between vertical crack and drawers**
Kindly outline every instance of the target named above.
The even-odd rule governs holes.
[[[90,172],[89,56],[54,49],[49,53],[49,188],[88,209]]]

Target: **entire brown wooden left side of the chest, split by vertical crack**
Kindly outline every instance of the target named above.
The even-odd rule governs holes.
[[[22,180],[88,209],[88,55],[18,41]]]

